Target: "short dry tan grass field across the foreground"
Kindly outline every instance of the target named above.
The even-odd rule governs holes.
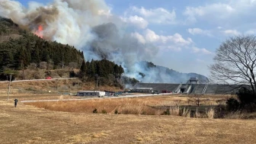
[[[0,143],[255,143],[256,120],[70,113],[0,101]]]

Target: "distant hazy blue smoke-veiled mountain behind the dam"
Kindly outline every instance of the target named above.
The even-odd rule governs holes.
[[[173,69],[168,69],[164,66],[156,66],[152,62],[139,62],[142,66],[139,82],[154,82],[154,83],[187,83],[190,77],[197,77],[199,83],[207,83],[209,79],[197,73],[182,73]]]

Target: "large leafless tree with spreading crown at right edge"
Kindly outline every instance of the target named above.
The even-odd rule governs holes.
[[[256,37],[238,36],[224,41],[210,66],[211,79],[222,83],[251,85],[255,94]]]

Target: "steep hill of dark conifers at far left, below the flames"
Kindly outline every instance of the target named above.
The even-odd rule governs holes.
[[[30,63],[47,62],[53,68],[75,62],[82,65],[83,53],[74,46],[43,40],[21,30],[10,19],[0,18],[0,72],[24,69]]]

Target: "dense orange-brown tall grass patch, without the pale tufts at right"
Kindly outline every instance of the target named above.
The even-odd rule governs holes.
[[[154,108],[149,107],[148,101],[139,98],[114,98],[104,100],[89,101],[57,101],[57,102],[34,102],[27,103],[35,107],[45,108],[47,110],[66,111],[66,112],[84,112],[92,113],[96,108],[98,112],[107,111],[107,114],[114,114],[118,110],[119,114],[155,114]]]

